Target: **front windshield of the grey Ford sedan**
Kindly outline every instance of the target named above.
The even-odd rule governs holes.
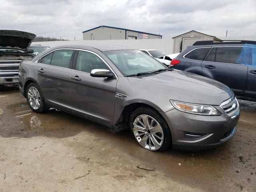
[[[124,76],[168,69],[151,56],[140,50],[114,50],[103,52]]]

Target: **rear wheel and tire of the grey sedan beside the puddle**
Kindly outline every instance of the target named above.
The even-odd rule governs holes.
[[[28,106],[36,113],[43,113],[49,110],[44,102],[44,97],[40,87],[36,83],[28,84],[26,88],[26,98]]]

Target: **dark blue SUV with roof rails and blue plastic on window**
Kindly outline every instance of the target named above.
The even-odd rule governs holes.
[[[256,101],[256,41],[198,41],[171,62],[229,86],[237,98]]]

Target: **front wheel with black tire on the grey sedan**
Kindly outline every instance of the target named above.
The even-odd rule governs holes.
[[[147,150],[164,151],[170,147],[170,129],[164,118],[150,107],[140,107],[132,112],[130,128],[137,142]]]

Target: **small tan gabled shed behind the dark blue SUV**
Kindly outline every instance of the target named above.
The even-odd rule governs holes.
[[[173,52],[179,53],[182,52],[187,48],[187,46],[190,46],[194,44],[196,41],[205,41],[205,40],[220,40],[219,38],[211,35],[207,35],[204,33],[200,33],[197,31],[190,31],[186,32],[184,34],[178,35],[176,37],[172,38],[174,40],[173,42]]]

